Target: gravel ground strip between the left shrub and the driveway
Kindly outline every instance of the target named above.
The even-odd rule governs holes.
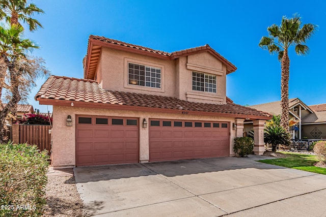
[[[74,176],[48,177],[43,216],[83,216],[82,208]]]

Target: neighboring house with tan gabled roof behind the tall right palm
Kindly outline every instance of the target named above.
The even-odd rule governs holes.
[[[281,114],[281,101],[249,106],[270,114]],[[298,98],[289,99],[289,118],[299,122],[290,129],[293,139],[326,138],[326,104],[307,106]],[[253,129],[251,121],[244,122],[244,132]]]

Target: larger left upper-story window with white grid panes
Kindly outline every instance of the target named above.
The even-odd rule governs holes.
[[[132,85],[161,88],[161,69],[128,63],[128,82]]]

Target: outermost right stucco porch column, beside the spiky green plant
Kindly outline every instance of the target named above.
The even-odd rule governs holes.
[[[265,152],[264,126],[265,120],[254,120],[254,152],[256,155],[263,155]]]

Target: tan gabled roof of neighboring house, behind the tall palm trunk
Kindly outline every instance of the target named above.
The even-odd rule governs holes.
[[[305,104],[303,103],[299,98],[293,98],[289,99],[289,108],[292,108],[298,104],[303,105],[306,109],[312,112],[312,110]],[[260,111],[265,111],[274,115],[279,115],[281,114],[281,101],[276,101],[276,102],[270,102],[270,103],[264,103],[264,104],[258,104],[258,105],[253,105],[249,106],[250,108],[254,108]]]

